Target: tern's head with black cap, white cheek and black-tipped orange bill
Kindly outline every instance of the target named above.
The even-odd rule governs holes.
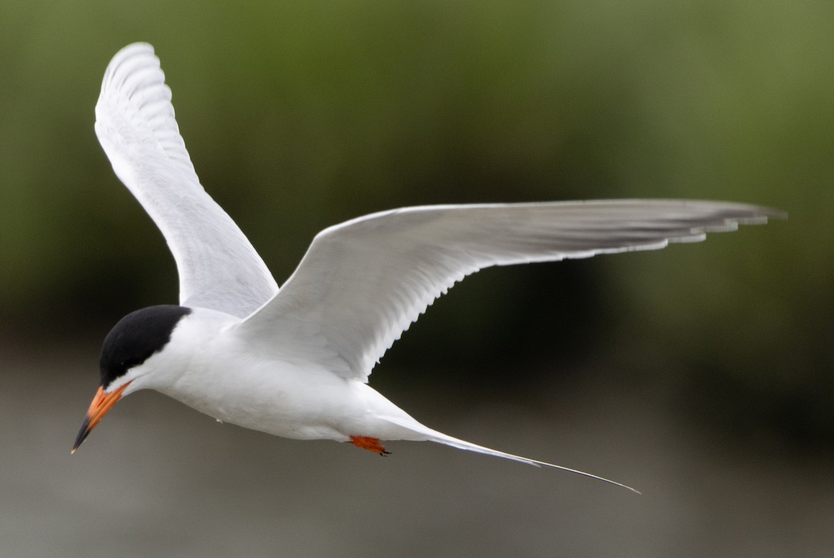
[[[73,453],[116,401],[153,385],[152,357],[163,351],[174,328],[190,313],[184,306],[150,306],[124,316],[113,327],[102,346],[101,386],[84,416]]]

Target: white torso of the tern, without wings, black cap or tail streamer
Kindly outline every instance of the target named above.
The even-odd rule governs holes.
[[[180,321],[166,350],[147,361],[164,372],[138,376],[123,395],[151,388],[219,421],[285,438],[349,441],[362,433],[425,439],[428,429],[372,387],[305,366],[291,353],[264,354],[238,335],[238,324],[234,316],[195,309]],[[414,430],[388,417],[413,423]]]

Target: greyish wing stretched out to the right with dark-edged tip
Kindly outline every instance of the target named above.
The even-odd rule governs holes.
[[[367,381],[401,333],[470,273],[700,241],[706,232],[767,217],[785,216],[766,207],[665,200],[374,213],[320,232],[281,291],[237,327],[261,350]]]

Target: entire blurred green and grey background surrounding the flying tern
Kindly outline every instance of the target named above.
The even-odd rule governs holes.
[[[0,4],[0,556],[830,556],[834,3]],[[118,319],[173,259],[93,133],[152,42],[208,192],[280,282],[415,204],[753,202],[787,222],[491,269],[371,384],[441,446],[380,459],[153,392],[75,456]]]

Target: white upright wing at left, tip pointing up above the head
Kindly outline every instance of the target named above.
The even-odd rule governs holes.
[[[149,44],[128,45],[110,61],[96,135],[113,171],[168,242],[181,305],[244,317],[278,292],[244,233],[200,185]]]

